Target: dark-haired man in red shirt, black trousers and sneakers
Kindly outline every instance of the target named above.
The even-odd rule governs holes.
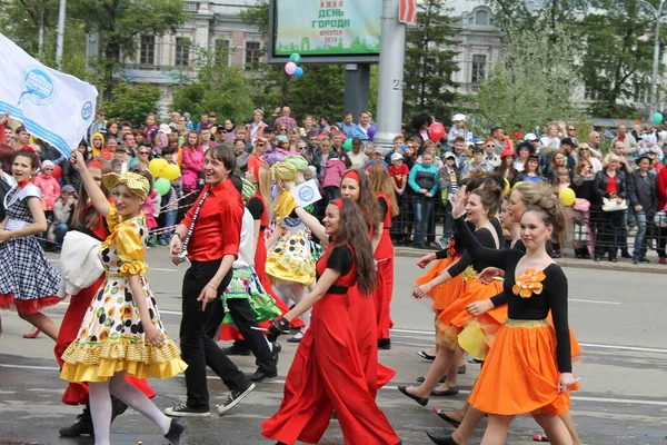
[[[183,251],[191,263],[183,277],[180,325],[181,355],[188,364],[188,399],[165,409],[169,416],[210,415],[207,364],[231,390],[225,404],[218,407],[219,414],[231,409],[255,389],[255,384],[212,339],[225,316],[220,296],[231,280],[241,237],[243,201],[231,184],[235,167],[236,156],[230,144],[208,149],[203,161],[206,187],[169,243],[173,264],[185,260]]]

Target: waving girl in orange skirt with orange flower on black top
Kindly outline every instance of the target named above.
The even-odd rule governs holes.
[[[469,307],[472,315],[478,315],[508,303],[507,323],[498,330],[470,395],[470,404],[489,414],[482,443],[505,443],[512,417],[530,413],[551,443],[571,444],[571,436],[558,417],[568,412],[567,392],[577,388],[571,374],[568,286],[565,274],[546,249],[554,231],[563,236],[568,228],[565,206],[556,197],[545,195],[526,209],[521,216],[526,251],[484,248],[461,215],[457,202],[452,216],[470,255],[507,271],[502,295]],[[549,310],[552,326],[546,319]]]

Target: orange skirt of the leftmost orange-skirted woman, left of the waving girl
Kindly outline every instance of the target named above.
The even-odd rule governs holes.
[[[449,349],[459,347],[459,334],[475,319],[475,317],[471,317],[470,314],[468,314],[466,307],[470,303],[489,299],[500,291],[502,291],[502,286],[498,281],[482,285],[477,277],[474,276],[468,279],[461,279],[458,298],[438,315],[438,322],[436,322],[439,330],[437,343],[447,346]],[[499,326],[502,322],[497,320],[496,317],[505,322],[505,318],[507,318],[507,307],[501,306],[495,308],[489,312],[488,316],[485,318],[487,318],[490,324],[497,323]]]

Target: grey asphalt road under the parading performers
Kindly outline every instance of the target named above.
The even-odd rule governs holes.
[[[168,333],[177,337],[180,320],[180,283],[185,267],[177,269],[166,258],[165,248],[149,250],[149,278],[158,297]],[[468,364],[460,376],[461,393],[456,397],[432,397],[427,407],[406,398],[396,385],[411,384],[424,375],[429,363],[416,355],[432,342],[432,315],[409,295],[420,270],[415,258],[397,258],[392,301],[392,348],[380,360],[397,370],[382,388],[378,404],[406,445],[427,445],[427,429],[446,424],[432,413],[434,406],[458,408],[479,373]],[[667,270],[667,269],[666,269]],[[665,275],[603,269],[565,269],[570,284],[570,324],[584,348],[583,363],[575,373],[581,389],[573,396],[573,415],[586,444],[667,444],[667,304]],[[64,313],[61,304],[47,313],[57,322]],[[58,378],[53,343],[43,335],[21,338],[30,330],[13,313],[3,313],[0,336],[0,445],[4,444],[92,444],[90,438],[62,439],[58,428],[76,421],[80,409],[60,404],[66,386]],[[262,419],[272,415],[282,397],[282,384],[296,347],[282,340],[279,377],[261,383],[228,415],[188,419],[181,443],[189,445],[268,444],[260,432]],[[235,358],[241,369],[255,370],[252,357]],[[511,382],[508,382],[511,384]],[[171,406],[185,399],[185,379],[153,380],[156,403]],[[212,403],[222,403],[226,388],[209,377]],[[508,444],[532,443],[539,428],[530,418],[517,418]],[[157,428],[141,415],[128,411],[112,426],[112,443],[119,445],[161,444]],[[470,441],[479,443],[481,431]],[[342,444],[340,428],[332,421],[321,444]],[[355,444],[361,445],[361,444]]]

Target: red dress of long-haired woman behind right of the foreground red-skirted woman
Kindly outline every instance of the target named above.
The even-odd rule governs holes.
[[[391,322],[391,296],[394,295],[394,245],[389,230],[391,229],[391,204],[385,194],[378,195],[378,201],[385,201],[387,212],[385,214],[384,229],[380,243],[375,251],[378,264],[378,288],[372,295],[376,306],[378,323],[378,339],[389,338],[389,329],[394,327]]]

